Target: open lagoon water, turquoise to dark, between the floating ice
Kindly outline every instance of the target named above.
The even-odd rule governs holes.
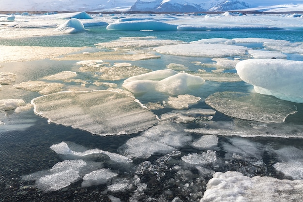
[[[290,42],[303,41],[302,29],[289,29],[289,30],[274,30],[274,31],[106,31],[105,27],[91,27],[89,30],[77,34],[68,34],[60,36],[45,36],[45,37],[31,37],[22,39],[0,39],[0,45],[7,46],[45,46],[45,47],[94,47],[94,44],[101,42],[108,42],[119,39],[119,37],[131,37],[131,36],[156,36],[157,39],[172,39],[182,40],[184,42],[190,42],[207,38],[271,38],[271,39],[283,39]],[[247,47],[259,48],[260,44],[246,44]],[[161,55],[161,54],[159,54]],[[288,54],[289,60],[303,61],[303,56],[298,54]],[[161,55],[161,59],[134,61],[132,64],[145,67],[151,70],[165,69],[168,63],[182,63],[189,68],[192,72],[197,72],[200,66],[194,65],[193,62],[202,61],[210,62],[209,58],[200,57],[181,57],[171,55]],[[117,61],[109,61],[111,63]],[[123,62],[123,61],[119,61]],[[34,62],[8,62],[0,64],[3,67],[0,71],[8,71],[20,75],[17,77],[15,83],[20,83],[27,80],[37,80],[39,78],[56,74],[61,71],[71,70],[74,71],[80,67],[76,64],[76,61],[52,61],[42,60]],[[211,71],[211,68],[205,68],[206,71]],[[233,72],[235,70],[227,70],[226,72]],[[95,81],[90,74],[80,73],[79,78],[85,79],[92,83]],[[114,81],[121,88],[123,80]],[[68,87],[76,86],[75,83],[69,84]],[[87,84],[87,87],[92,87],[92,84]],[[68,89],[66,87],[66,89]],[[105,88],[98,88],[98,90]],[[22,98],[27,103],[31,99],[40,96],[38,93],[27,92],[23,90],[7,90],[0,91],[1,97],[4,99],[9,98]],[[201,102],[192,106],[191,108],[197,109],[210,109],[210,107],[204,102],[204,100],[212,93],[233,91],[247,93],[252,90],[252,86],[240,82],[214,82],[207,81],[202,87],[190,89],[188,94],[192,94],[201,97]],[[12,92],[12,93],[10,93]],[[169,95],[165,93],[145,93],[136,96],[141,103],[147,104],[149,102],[161,102],[168,98]],[[303,104],[296,103],[298,112],[288,117],[286,123],[290,124],[303,124]],[[173,109],[157,109],[153,110],[156,115],[161,115],[165,112],[172,111]],[[233,118],[226,116],[222,113],[216,113],[212,119],[215,122],[232,121]],[[33,181],[24,182],[21,179],[22,175],[35,173],[37,171],[45,171],[52,168],[56,163],[62,161],[62,156],[56,154],[49,147],[53,144],[58,144],[61,141],[74,142],[76,144],[85,146],[89,149],[101,149],[108,152],[119,153],[121,146],[127,140],[137,137],[140,134],[121,135],[121,136],[97,136],[92,135],[89,132],[75,129],[72,127],[66,127],[58,124],[48,123],[45,118],[39,117],[33,113],[32,110],[22,112],[20,114],[8,111],[0,114],[0,121],[6,123],[5,127],[1,128],[0,125],[0,201],[76,201],[87,200],[89,201],[106,201],[109,195],[113,195],[120,198],[121,201],[128,201],[131,197],[136,196],[136,186],[138,184],[133,183],[135,177],[138,176],[140,183],[146,183],[147,188],[141,195],[136,196],[137,201],[147,201],[147,199],[154,198],[155,201],[172,201],[175,196],[179,196],[180,199],[185,201],[198,201],[198,198],[194,198],[192,193],[205,191],[203,183],[211,178],[210,176],[198,175],[197,169],[193,167],[187,167],[181,163],[180,156],[172,158],[172,161],[167,162],[165,166],[159,166],[156,161],[162,157],[163,154],[154,154],[148,159],[134,159],[134,162],[129,165],[116,165],[112,162],[103,162],[105,168],[110,168],[119,172],[120,179],[129,180],[129,184],[132,184],[132,188],[126,192],[111,192],[106,189],[104,184],[99,186],[91,186],[88,188],[80,187],[81,180],[72,183],[61,190],[55,192],[44,193],[43,191],[35,188]],[[244,121],[244,124],[253,123]],[[10,127],[10,125],[12,125]],[[195,128],[197,124],[181,124],[187,128]],[[199,127],[207,127],[206,125],[200,125]],[[302,132],[302,131],[301,131]],[[193,139],[201,137],[201,134],[191,133],[190,136]],[[231,141],[233,137],[220,137],[217,148],[217,158],[224,162],[227,160],[225,154],[228,151],[224,150],[224,144]],[[262,156],[262,160],[265,164],[264,170],[260,172],[253,172],[255,165],[249,161],[247,157],[242,161],[234,162],[234,165],[226,165],[224,163],[220,166],[206,166],[207,169],[213,171],[243,171],[244,174],[250,174],[251,176],[274,176],[279,179],[288,179],[289,177],[283,175],[281,172],[273,169],[273,162],[277,162],[278,159],[271,149],[279,149],[286,146],[295,146],[298,149],[303,150],[302,138],[269,138],[269,137],[257,137],[257,138],[239,138],[243,141],[250,141],[253,144],[261,144],[258,146],[259,153]],[[270,148],[270,149],[269,149]],[[189,145],[179,148],[182,155],[199,153],[201,150],[194,149]],[[205,152],[205,150],[203,150]],[[150,170],[146,168],[144,174],[136,174],[135,171],[139,165],[145,161],[150,161],[152,165]],[[97,160],[96,160],[97,161]],[[244,166],[241,166],[245,164]],[[218,164],[219,165],[219,164]],[[240,165],[240,166],[239,166]],[[182,167],[182,171],[178,172],[176,167]],[[153,170],[154,169],[154,170]],[[262,167],[263,169],[263,167]],[[164,177],[157,178],[155,173],[165,173]],[[204,180],[202,180],[202,178]],[[199,181],[200,180],[200,181]],[[115,181],[115,180],[113,180]],[[115,181],[119,181],[119,178]],[[203,182],[202,182],[203,181]],[[194,186],[190,186],[188,191],[185,190],[186,184],[192,183]],[[110,182],[108,182],[110,185]],[[194,188],[196,187],[196,188]],[[106,191],[107,190],[107,191]],[[135,191],[136,190],[136,191]],[[201,195],[199,195],[201,196]],[[151,200],[152,201],[152,200]]]

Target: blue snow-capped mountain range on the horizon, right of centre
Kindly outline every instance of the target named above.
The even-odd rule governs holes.
[[[130,11],[153,12],[203,12],[230,11],[249,8],[249,4],[239,0],[209,0],[198,3],[197,0],[137,0]]]

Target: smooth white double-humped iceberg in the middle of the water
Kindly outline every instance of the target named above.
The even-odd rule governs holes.
[[[172,95],[179,95],[203,83],[204,80],[200,77],[167,69],[128,78],[124,80],[122,87],[134,94],[147,93],[155,90]]]

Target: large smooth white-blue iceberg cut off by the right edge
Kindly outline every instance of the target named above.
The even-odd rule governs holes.
[[[303,61],[251,59],[239,62],[236,70],[257,93],[303,103],[302,65]]]

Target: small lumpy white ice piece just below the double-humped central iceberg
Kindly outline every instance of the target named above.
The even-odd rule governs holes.
[[[189,94],[181,94],[177,97],[168,97],[167,103],[174,109],[187,109],[189,106],[197,104],[200,97]]]

